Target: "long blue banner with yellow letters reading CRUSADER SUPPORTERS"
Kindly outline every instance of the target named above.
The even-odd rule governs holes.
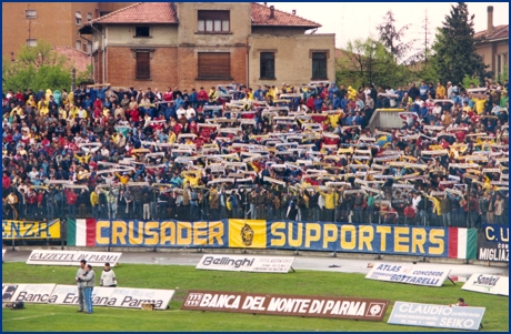
[[[447,257],[443,227],[294,221],[208,222],[99,220],[97,246],[269,249]]]

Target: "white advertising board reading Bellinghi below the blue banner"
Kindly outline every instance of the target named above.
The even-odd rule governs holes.
[[[196,269],[231,272],[288,273],[294,257],[204,255]]]

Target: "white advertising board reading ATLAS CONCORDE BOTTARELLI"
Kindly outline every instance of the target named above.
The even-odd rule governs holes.
[[[430,266],[375,263],[365,275],[365,279],[414,285],[442,286],[450,272],[450,270]]]

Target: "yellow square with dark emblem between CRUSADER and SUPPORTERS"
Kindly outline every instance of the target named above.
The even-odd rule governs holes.
[[[229,220],[229,247],[265,249],[267,221]]]

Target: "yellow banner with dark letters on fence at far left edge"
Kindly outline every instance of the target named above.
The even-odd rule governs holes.
[[[50,222],[2,220],[2,239],[60,239],[60,220]]]

